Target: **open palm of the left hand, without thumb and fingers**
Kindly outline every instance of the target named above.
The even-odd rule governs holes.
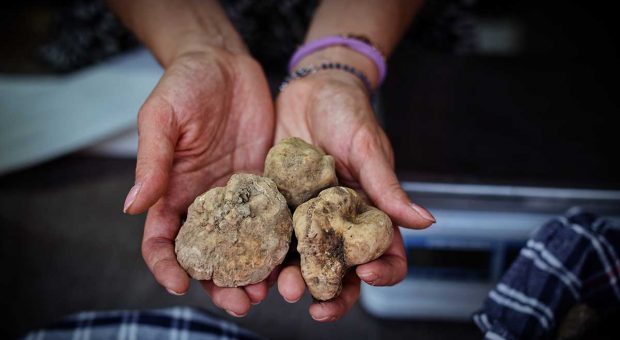
[[[162,99],[174,103],[169,105],[171,118],[178,125],[163,199],[179,213],[234,172],[262,171],[273,109],[260,67],[249,58],[240,59],[225,67],[233,68],[226,73],[204,60],[188,60],[169,69],[169,78],[160,84],[166,89]]]

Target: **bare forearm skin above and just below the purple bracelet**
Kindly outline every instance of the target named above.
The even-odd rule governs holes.
[[[387,58],[409,27],[422,0],[325,0],[317,8],[306,42],[339,34],[365,36]],[[300,66],[322,61],[347,63],[363,71],[373,85],[378,72],[371,60],[344,47],[330,47],[304,58]]]

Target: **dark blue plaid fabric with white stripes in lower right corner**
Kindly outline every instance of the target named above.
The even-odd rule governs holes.
[[[577,303],[615,312],[619,253],[618,225],[571,209],[536,231],[474,322],[487,339],[544,339]]]

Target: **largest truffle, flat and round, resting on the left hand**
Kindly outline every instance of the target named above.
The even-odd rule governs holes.
[[[264,280],[284,260],[291,234],[291,213],[275,183],[236,174],[190,205],[175,251],[191,277],[245,286]]]

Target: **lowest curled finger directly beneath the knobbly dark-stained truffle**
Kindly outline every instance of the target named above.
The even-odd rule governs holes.
[[[331,322],[340,319],[355,304],[360,295],[360,280],[355,273],[345,276],[342,292],[338,297],[310,305],[310,316],[316,321]]]

